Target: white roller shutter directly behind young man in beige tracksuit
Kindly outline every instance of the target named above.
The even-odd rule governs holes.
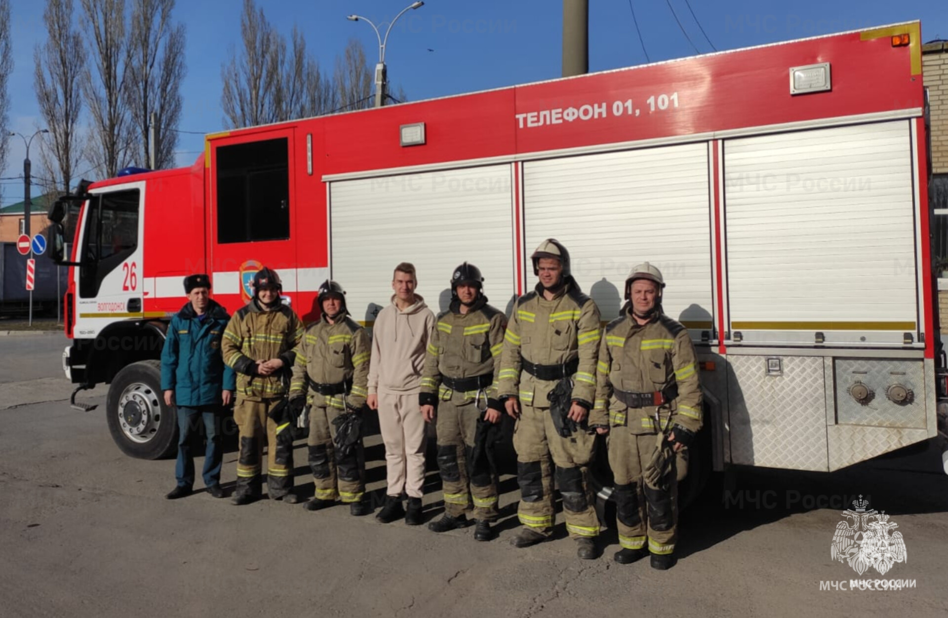
[[[417,293],[447,309],[453,269],[477,265],[490,303],[514,298],[509,165],[344,180],[330,186],[333,278],[358,321],[391,304],[392,271],[410,262]]]

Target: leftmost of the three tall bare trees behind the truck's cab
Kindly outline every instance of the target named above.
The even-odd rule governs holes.
[[[51,182],[47,191],[68,192],[82,160],[80,80],[85,48],[76,31],[72,0],[46,0],[46,43],[33,51],[33,87],[49,135],[40,142],[40,164]]]

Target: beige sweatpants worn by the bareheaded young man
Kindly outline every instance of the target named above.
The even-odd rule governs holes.
[[[385,443],[388,495],[398,496],[404,490],[409,498],[421,498],[427,433],[418,393],[378,391],[378,426]]]

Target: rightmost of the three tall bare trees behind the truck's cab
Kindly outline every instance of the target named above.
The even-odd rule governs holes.
[[[152,113],[156,113],[155,169],[171,167],[181,118],[181,80],[185,75],[183,24],[173,24],[174,0],[133,0],[125,96],[134,133],[133,160],[150,160]]]

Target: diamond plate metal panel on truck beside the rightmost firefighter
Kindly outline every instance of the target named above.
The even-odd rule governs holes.
[[[779,358],[780,374],[768,374],[769,358]],[[734,464],[829,469],[823,362],[808,356],[728,356]]]

